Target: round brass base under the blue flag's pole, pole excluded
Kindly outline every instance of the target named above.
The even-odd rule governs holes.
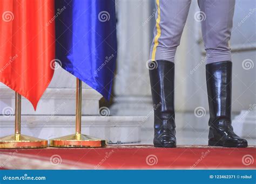
[[[76,133],[51,139],[50,147],[106,147],[106,140]]]

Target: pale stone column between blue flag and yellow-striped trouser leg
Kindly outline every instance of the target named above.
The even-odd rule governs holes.
[[[149,71],[154,1],[118,0],[118,59],[111,115],[146,116],[152,110]]]

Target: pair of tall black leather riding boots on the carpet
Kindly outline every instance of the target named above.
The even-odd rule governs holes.
[[[153,144],[176,147],[174,63],[157,60],[149,65],[156,66],[149,70],[154,104]],[[231,125],[232,62],[207,64],[206,83],[210,111],[208,145],[247,147],[247,141],[235,135]]]

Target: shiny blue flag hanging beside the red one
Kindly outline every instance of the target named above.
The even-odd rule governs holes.
[[[111,96],[117,57],[113,0],[56,0],[56,59],[97,90]]]

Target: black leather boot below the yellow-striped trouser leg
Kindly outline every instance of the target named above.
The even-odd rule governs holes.
[[[174,63],[157,60],[149,65],[154,66],[149,70],[154,104],[154,147],[176,147]]]

